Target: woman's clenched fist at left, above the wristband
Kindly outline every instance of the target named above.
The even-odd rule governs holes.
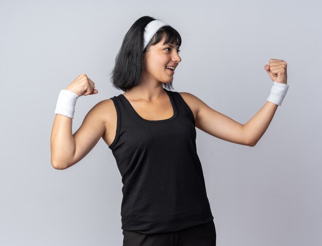
[[[95,83],[82,73],[73,82],[67,86],[66,90],[76,93],[78,96],[94,95],[98,93],[98,90],[94,89]]]

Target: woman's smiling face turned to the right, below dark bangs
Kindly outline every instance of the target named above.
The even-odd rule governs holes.
[[[149,47],[148,51],[144,54],[144,72],[142,80],[150,82],[170,83],[173,80],[174,70],[181,57],[178,52],[179,47],[175,44],[165,44],[166,36],[156,45]],[[166,67],[173,67],[174,70]]]

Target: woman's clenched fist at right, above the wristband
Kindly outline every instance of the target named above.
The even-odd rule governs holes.
[[[288,64],[284,60],[270,59],[269,65],[266,64],[264,69],[273,81],[287,85],[287,66]]]

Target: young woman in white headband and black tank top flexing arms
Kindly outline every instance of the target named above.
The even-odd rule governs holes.
[[[287,64],[264,68],[274,81],[263,108],[242,125],[188,92],[171,91],[181,62],[181,36],[162,20],[143,16],[124,36],[112,72],[123,94],[100,101],[71,132],[76,100],[98,93],[81,74],[60,92],[51,134],[51,163],[66,169],[102,137],[122,176],[123,245],[216,245],[196,131],[255,146],[287,90]]]

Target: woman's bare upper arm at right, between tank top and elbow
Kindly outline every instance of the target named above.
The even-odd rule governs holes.
[[[222,140],[249,146],[243,124],[210,108],[199,98],[197,100],[196,128]]]

